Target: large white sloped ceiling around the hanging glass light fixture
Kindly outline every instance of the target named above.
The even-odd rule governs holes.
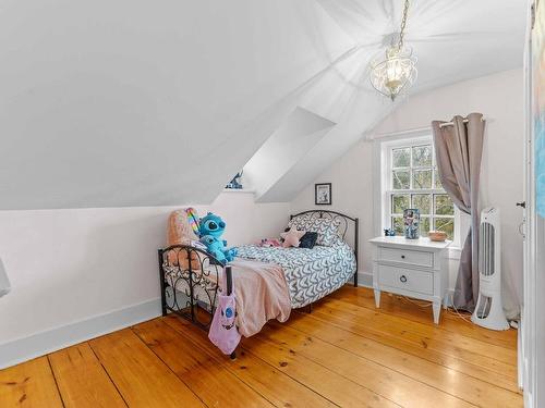
[[[366,66],[401,8],[2,2],[0,209],[209,202],[300,107],[336,125],[262,197],[291,199],[393,108]],[[521,65],[524,18],[523,1],[413,1],[413,91]]]

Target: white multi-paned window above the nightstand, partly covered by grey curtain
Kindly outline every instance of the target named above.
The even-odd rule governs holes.
[[[441,186],[432,137],[385,143],[383,146],[384,226],[403,235],[403,210],[421,213],[421,236],[444,231],[455,240],[458,211]]]

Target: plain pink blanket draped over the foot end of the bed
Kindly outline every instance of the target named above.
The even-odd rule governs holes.
[[[233,271],[239,333],[244,337],[259,333],[270,319],[284,322],[291,304],[282,268],[246,259],[230,262]]]

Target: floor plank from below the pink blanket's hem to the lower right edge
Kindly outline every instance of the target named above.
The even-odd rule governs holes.
[[[471,404],[456,398],[408,375],[377,364],[368,359],[305,335],[290,327],[267,327],[257,338],[249,338],[252,345],[263,347],[266,342],[286,350],[289,356],[303,356],[331,372],[341,375],[403,407],[470,407]],[[251,348],[253,349],[253,348]],[[391,384],[396,384],[395,387]]]

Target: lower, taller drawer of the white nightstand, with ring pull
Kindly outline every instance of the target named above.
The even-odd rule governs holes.
[[[432,272],[379,264],[378,283],[380,286],[398,287],[425,295],[434,294],[434,275]]]

